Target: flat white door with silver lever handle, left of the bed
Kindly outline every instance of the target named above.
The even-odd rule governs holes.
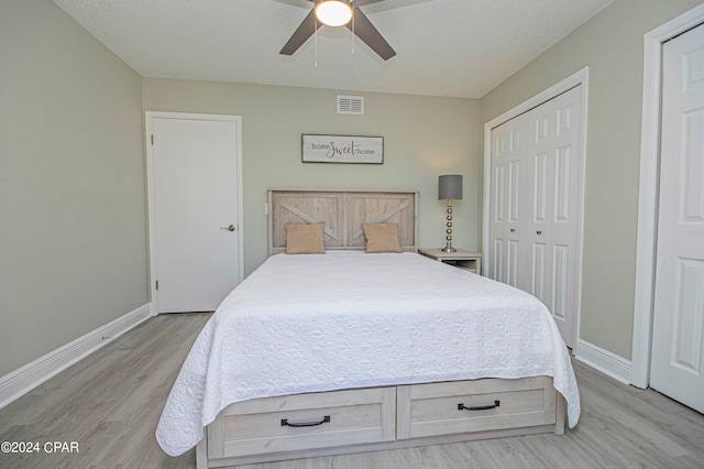
[[[157,313],[215,310],[241,277],[239,118],[147,121],[153,301]]]

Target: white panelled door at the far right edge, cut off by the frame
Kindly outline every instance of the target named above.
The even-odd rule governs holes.
[[[650,385],[704,413],[704,25],[662,57]]]

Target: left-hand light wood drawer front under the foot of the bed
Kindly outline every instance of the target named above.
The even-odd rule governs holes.
[[[208,427],[208,457],[392,441],[396,388],[296,394],[232,404]]]

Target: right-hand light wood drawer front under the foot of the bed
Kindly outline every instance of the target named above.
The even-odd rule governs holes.
[[[548,377],[398,386],[397,437],[554,424],[556,399]],[[460,404],[480,410],[459,408]]]

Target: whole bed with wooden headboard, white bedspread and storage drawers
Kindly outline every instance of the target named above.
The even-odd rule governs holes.
[[[560,435],[565,414],[576,424],[549,312],[418,254],[417,193],[270,190],[268,208],[270,258],[222,302],[174,383],[156,430],[167,454],[196,446],[198,468],[222,467]],[[288,231],[316,226],[322,252],[286,253]],[[380,246],[371,230],[389,227],[398,252],[366,253]]]

